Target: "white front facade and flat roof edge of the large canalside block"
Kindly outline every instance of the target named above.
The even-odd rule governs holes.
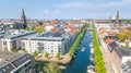
[[[38,51],[38,53],[44,54],[48,52],[50,54],[64,53],[64,39],[61,37],[26,37],[22,40],[22,48],[28,53]]]

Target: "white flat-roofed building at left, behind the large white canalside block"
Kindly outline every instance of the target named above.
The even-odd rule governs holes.
[[[2,51],[12,51],[13,49],[21,49],[21,40],[25,36],[35,34],[34,31],[9,31],[5,36],[1,38]]]

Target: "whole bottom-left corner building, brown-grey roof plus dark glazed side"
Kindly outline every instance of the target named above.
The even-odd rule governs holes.
[[[0,73],[35,73],[34,62],[27,53],[0,52]]]

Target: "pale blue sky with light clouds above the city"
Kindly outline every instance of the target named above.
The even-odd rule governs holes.
[[[131,19],[131,0],[0,0],[0,19]]]

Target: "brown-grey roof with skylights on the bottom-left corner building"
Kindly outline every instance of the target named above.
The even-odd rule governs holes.
[[[34,61],[33,56],[19,52],[0,52],[0,73],[11,73],[23,63]]]

